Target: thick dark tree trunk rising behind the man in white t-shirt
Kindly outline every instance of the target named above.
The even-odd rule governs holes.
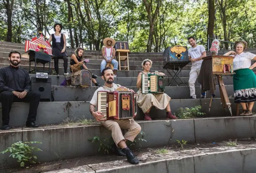
[[[207,28],[207,37],[214,38],[214,22],[215,22],[215,5],[214,0],[208,0],[208,28]],[[211,40],[209,39],[208,47],[211,47]]]

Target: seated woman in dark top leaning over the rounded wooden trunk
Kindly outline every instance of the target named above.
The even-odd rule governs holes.
[[[84,49],[81,47],[76,48],[75,54],[72,54],[71,58],[70,58],[70,72],[77,72],[79,70],[89,70],[86,67],[86,63],[88,62],[87,60],[83,60],[83,52]],[[97,76],[92,74],[92,82],[96,85],[96,86],[100,86],[100,84],[98,82],[96,82]]]

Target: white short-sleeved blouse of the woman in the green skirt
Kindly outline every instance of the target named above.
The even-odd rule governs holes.
[[[249,68],[251,66],[251,60],[255,57],[255,54],[250,52],[242,52],[241,54],[237,54],[234,58],[233,62],[233,70],[239,70],[242,68]]]

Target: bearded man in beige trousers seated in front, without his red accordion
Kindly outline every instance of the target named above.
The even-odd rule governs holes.
[[[139,160],[133,155],[126,145],[126,141],[133,140],[137,134],[140,133],[141,127],[134,119],[121,119],[121,120],[105,120],[102,112],[95,111],[97,106],[98,91],[114,91],[120,85],[114,84],[114,72],[111,68],[107,67],[102,70],[102,79],[105,81],[104,85],[98,88],[92,96],[90,101],[90,113],[95,119],[100,122],[107,129],[111,130],[112,138],[115,144],[112,146],[117,155],[126,156],[130,164],[139,164]],[[130,90],[134,92],[133,90]],[[122,129],[128,130],[125,135],[122,134]]]

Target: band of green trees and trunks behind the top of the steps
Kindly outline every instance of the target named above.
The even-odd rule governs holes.
[[[49,38],[60,22],[71,48],[100,50],[105,37],[140,52],[187,45],[189,36],[205,47],[208,35],[256,44],[256,0],[0,0],[0,13],[0,41]]]

